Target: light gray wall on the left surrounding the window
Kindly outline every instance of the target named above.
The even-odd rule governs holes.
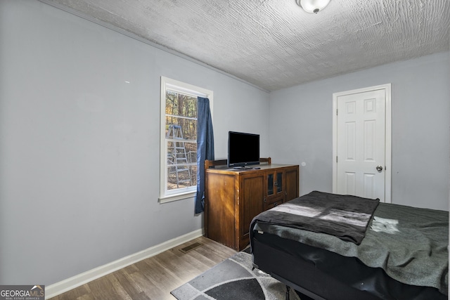
[[[202,228],[193,199],[158,203],[160,76],[214,91],[217,157],[229,130],[269,155],[269,94],[242,81],[39,1],[0,1],[0,45],[0,284],[50,285]]]

